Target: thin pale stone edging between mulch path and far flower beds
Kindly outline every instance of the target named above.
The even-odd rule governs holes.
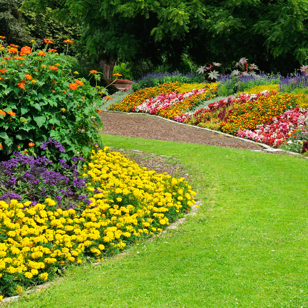
[[[204,128],[204,127],[198,127],[198,126],[195,126],[195,125],[189,125],[189,124],[184,124],[184,123],[180,123],[180,122],[176,122],[176,121],[173,121],[173,120],[170,120],[170,119],[166,119],[166,118],[163,118],[161,117],[160,115],[149,115],[147,113],[139,113],[139,112],[124,112],[124,111],[115,111],[115,110],[103,110],[104,112],[111,112],[111,113],[124,113],[124,114],[132,114],[132,115],[145,115],[145,116],[154,116],[154,117],[157,117],[157,118],[160,118],[162,120],[166,120],[166,121],[169,121],[169,122],[173,122],[173,123],[177,123],[177,124],[181,124],[181,125],[186,125],[186,126],[189,126],[189,127],[193,127],[193,128],[197,128],[197,129],[204,129],[208,132],[212,132],[212,133],[216,133],[216,134],[220,134],[220,135],[223,135],[225,137],[228,137],[228,138],[235,138],[235,139],[239,139],[239,140],[242,140],[242,141],[245,141],[245,142],[251,142],[253,144],[257,144],[257,145],[260,145],[261,147],[263,147],[263,152],[268,152],[268,153],[273,153],[273,152],[285,152],[285,153],[288,153],[290,155],[300,155],[302,156],[302,154],[300,153],[295,153],[295,152],[290,152],[290,151],[286,151],[286,150],[281,150],[281,149],[275,149],[275,148],[272,148],[271,146],[267,145],[267,144],[264,144],[264,143],[260,143],[260,142],[256,142],[256,141],[253,141],[253,140],[249,140],[249,139],[244,139],[244,138],[241,138],[241,137],[237,137],[237,136],[232,136],[232,135],[229,135],[229,134],[226,134],[226,133],[223,133],[223,132],[218,132],[218,131],[214,131],[213,129],[209,129],[209,128]],[[262,152],[261,150],[251,150],[251,151],[254,151],[254,152]],[[303,158],[308,158],[308,157],[305,157],[305,156],[302,156]]]

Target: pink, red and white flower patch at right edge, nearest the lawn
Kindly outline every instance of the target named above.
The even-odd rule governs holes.
[[[308,111],[295,107],[282,115],[272,118],[266,124],[257,125],[257,129],[251,131],[239,130],[237,136],[245,139],[279,147],[290,137],[296,128],[308,124]]]

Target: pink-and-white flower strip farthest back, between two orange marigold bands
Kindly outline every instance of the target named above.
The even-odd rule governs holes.
[[[155,97],[146,99],[142,104],[136,106],[135,112],[145,112],[149,114],[157,114],[159,110],[169,108],[176,103],[182,102],[192,95],[201,94],[209,91],[208,89],[198,89],[186,93],[170,92],[168,94],[160,94]]]

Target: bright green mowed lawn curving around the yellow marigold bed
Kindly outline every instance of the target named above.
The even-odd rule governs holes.
[[[68,269],[45,293],[12,307],[308,307],[308,160],[104,138],[179,159],[203,205],[178,229],[99,266]]]

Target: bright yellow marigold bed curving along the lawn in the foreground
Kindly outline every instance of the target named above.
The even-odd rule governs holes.
[[[93,193],[81,213],[57,209],[49,198],[36,205],[0,201],[0,278],[14,281],[15,290],[21,280],[45,281],[66,262],[101,260],[143,234],[162,231],[195,203],[184,178],[140,168],[117,152],[92,154],[83,175]]]

